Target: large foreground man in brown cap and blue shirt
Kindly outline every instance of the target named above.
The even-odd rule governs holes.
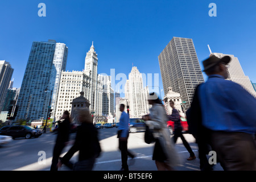
[[[208,80],[198,86],[201,125],[224,170],[256,170],[256,99],[228,78],[229,56],[203,61]],[[191,107],[192,107],[191,104]]]

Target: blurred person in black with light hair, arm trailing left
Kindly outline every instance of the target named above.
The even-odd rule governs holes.
[[[101,147],[98,141],[98,131],[93,125],[89,109],[79,110],[80,126],[77,127],[75,143],[63,156],[57,167],[68,163],[75,152],[79,151],[79,161],[74,164],[74,171],[92,171],[96,158],[100,156]]]

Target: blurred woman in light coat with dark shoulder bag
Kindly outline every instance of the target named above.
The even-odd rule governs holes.
[[[152,160],[155,160],[159,171],[171,171],[179,164],[179,155],[171,140],[170,131],[167,128],[167,114],[161,100],[153,92],[148,97],[148,104],[152,105],[149,116],[145,117],[148,128],[155,138],[155,148]]]

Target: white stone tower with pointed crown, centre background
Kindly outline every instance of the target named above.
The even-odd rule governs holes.
[[[142,74],[137,67],[129,73],[129,80],[125,84],[125,98],[129,104],[130,118],[141,118],[149,112],[148,88],[144,88]]]

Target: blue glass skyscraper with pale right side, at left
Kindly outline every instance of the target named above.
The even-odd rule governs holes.
[[[61,71],[66,68],[67,57],[68,47],[63,43],[55,40],[32,43],[17,102],[16,119],[46,119],[50,99],[55,113]]]

